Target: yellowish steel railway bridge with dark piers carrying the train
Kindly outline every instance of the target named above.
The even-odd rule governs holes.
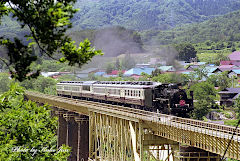
[[[69,160],[210,161],[226,149],[225,157],[240,160],[239,128],[29,91],[25,96],[52,106],[58,146],[72,147]]]

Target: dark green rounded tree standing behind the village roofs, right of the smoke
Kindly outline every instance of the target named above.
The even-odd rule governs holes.
[[[194,46],[190,43],[176,45],[176,50],[178,51],[178,59],[189,61],[191,58],[195,58],[197,51]]]

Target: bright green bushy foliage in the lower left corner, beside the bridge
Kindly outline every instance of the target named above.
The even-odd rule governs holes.
[[[67,160],[69,152],[58,152],[57,119],[51,117],[48,106],[24,101],[23,89],[12,84],[0,97],[0,111],[0,160]],[[28,151],[16,152],[17,148]],[[66,146],[61,149],[70,150]]]

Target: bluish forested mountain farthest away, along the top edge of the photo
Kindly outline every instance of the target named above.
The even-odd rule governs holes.
[[[124,26],[169,29],[240,9],[240,0],[78,0],[75,30]]]

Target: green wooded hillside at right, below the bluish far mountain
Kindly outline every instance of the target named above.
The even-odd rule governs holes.
[[[141,32],[141,34],[143,41],[149,45],[181,42],[199,43],[206,40],[215,42],[240,41],[240,11],[171,30],[152,30]]]

